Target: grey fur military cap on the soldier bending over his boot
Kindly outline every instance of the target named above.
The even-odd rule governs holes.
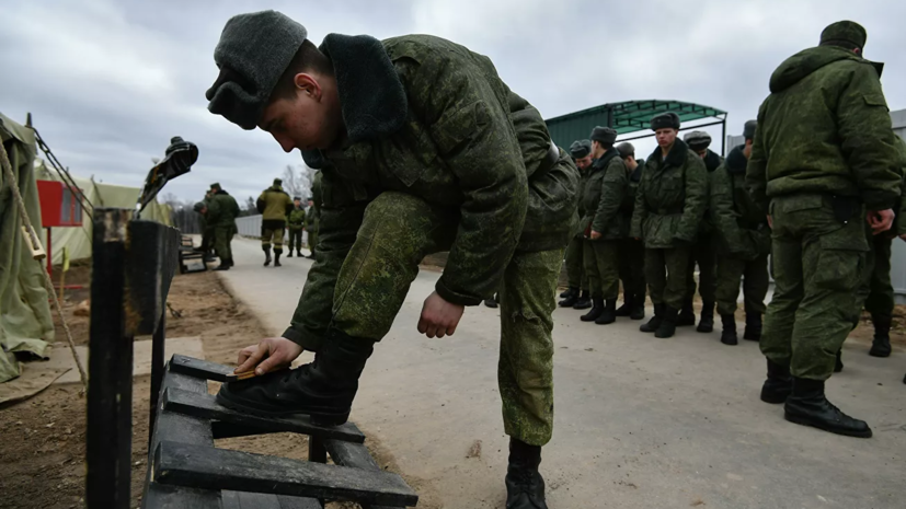
[[[214,49],[220,74],[205,92],[208,111],[245,130],[254,129],[306,38],[305,26],[277,11],[230,18]]]

